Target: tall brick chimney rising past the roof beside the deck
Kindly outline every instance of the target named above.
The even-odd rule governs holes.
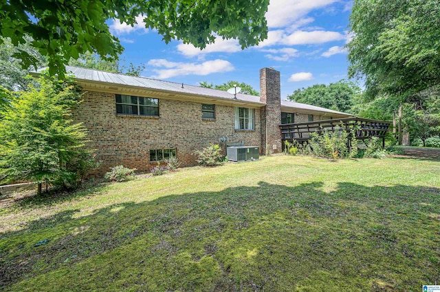
[[[280,72],[272,68],[260,70],[261,147],[263,154],[281,152],[281,80]]]

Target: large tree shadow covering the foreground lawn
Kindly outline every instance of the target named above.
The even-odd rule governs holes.
[[[439,188],[259,182],[68,210],[0,235],[0,287],[415,291],[440,277],[439,205]]]

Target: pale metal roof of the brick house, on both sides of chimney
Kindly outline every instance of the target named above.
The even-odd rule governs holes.
[[[47,68],[39,69],[37,72],[41,72]],[[176,82],[169,82],[163,80],[155,80],[147,77],[135,77],[130,75],[124,75],[120,73],[111,73],[106,71],[100,71],[96,69],[88,69],[77,66],[66,66],[67,73],[71,73],[75,76],[76,80],[85,80],[93,82],[103,82],[109,84],[119,84],[123,86],[135,86],[148,89],[156,90],[167,90],[175,93],[185,93],[190,95],[200,95],[203,97],[217,97],[220,99],[234,99],[234,95],[223,90],[203,88],[200,86],[181,84]],[[239,101],[248,101],[256,104],[264,105],[260,101],[260,97],[254,95],[243,95],[237,93],[236,98]],[[300,104],[293,101],[281,101],[281,106],[286,108],[293,108],[298,110],[311,110],[315,112],[325,112],[332,114],[341,114],[346,116],[351,116],[351,114],[346,114],[344,112],[338,112],[336,110],[329,110],[327,108],[320,108],[319,106],[311,106],[309,104]]]

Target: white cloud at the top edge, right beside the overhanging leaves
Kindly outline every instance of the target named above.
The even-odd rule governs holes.
[[[325,7],[338,0],[271,0],[266,19],[270,28],[287,27],[311,10]]]

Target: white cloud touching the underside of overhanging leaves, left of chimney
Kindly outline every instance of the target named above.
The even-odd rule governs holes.
[[[177,45],[177,51],[186,57],[194,57],[207,53],[234,53],[236,51],[241,51],[241,46],[238,40],[230,38],[228,40],[223,40],[221,36],[217,36],[214,42],[207,45],[205,49],[199,49],[191,44],[180,43]]]

